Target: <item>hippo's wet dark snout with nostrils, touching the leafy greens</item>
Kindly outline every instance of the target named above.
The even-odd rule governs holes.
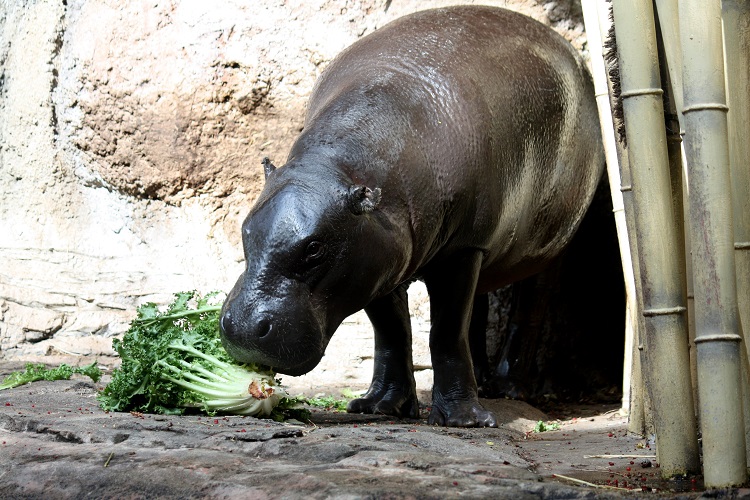
[[[263,305],[243,306],[240,300],[227,300],[219,326],[224,348],[240,363],[302,375],[323,357],[326,342],[322,329],[299,307],[274,311]]]

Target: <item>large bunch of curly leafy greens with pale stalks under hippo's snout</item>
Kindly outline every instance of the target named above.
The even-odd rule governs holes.
[[[104,410],[182,414],[197,408],[214,413],[274,416],[296,406],[268,368],[238,364],[219,336],[218,294],[175,294],[161,312],[154,303],[112,346],[122,358],[98,400]]]

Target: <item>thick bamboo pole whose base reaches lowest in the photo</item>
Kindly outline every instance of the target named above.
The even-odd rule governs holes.
[[[720,0],[680,2],[698,394],[707,487],[747,479]],[[737,68],[746,71],[746,68]]]

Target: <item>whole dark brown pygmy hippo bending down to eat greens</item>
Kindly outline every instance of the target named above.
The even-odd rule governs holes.
[[[286,164],[264,166],[242,225],[246,268],[222,309],[229,354],[306,373],[364,308],[375,370],[348,411],[416,418],[407,287],[421,279],[429,423],[496,426],[477,398],[475,297],[558,255],[602,173],[594,91],[574,49],[499,8],[405,16],[330,63]]]

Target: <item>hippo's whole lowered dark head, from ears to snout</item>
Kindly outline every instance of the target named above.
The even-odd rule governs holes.
[[[222,308],[222,341],[239,362],[301,375],[402,259],[386,249],[380,189],[265,166],[266,185],[242,225],[246,267]]]

